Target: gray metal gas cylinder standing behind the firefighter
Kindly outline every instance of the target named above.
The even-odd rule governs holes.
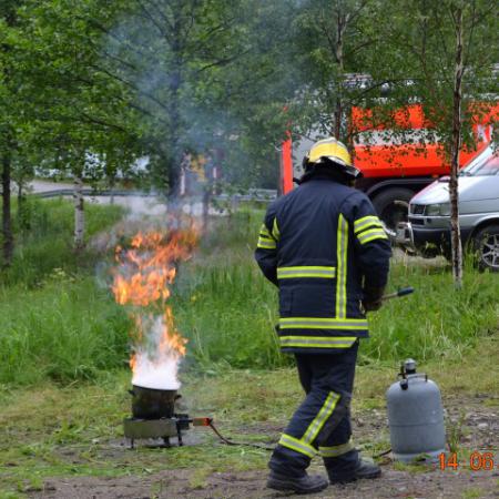
[[[386,393],[394,457],[403,462],[422,456],[435,461],[446,447],[440,390],[428,376],[416,373],[413,359],[404,363],[399,376]]]

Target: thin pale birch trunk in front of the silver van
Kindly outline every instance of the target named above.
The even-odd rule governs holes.
[[[462,245],[459,226],[459,151],[461,147],[461,101],[462,101],[462,10],[456,10],[456,60],[454,74],[452,142],[450,154],[450,238],[452,247],[452,275],[456,287],[462,287]]]

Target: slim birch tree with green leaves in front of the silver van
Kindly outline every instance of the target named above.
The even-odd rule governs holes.
[[[497,9],[486,0],[394,0],[389,16],[373,19],[384,42],[369,52],[376,81],[391,81],[390,98],[378,103],[379,120],[399,105],[418,103],[428,123],[427,142],[438,143],[450,164],[449,202],[452,275],[462,286],[459,230],[459,165],[462,147],[473,149],[477,122],[493,125],[499,61]],[[405,139],[407,130],[394,130]],[[408,139],[414,141],[414,136]]]

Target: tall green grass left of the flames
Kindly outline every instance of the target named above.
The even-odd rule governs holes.
[[[125,365],[130,323],[93,277],[0,291],[0,384],[91,379]]]

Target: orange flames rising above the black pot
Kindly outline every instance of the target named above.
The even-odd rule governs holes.
[[[116,303],[132,310],[135,327],[130,367],[134,374],[141,355],[146,355],[146,361],[155,365],[185,355],[187,340],[176,329],[172,307],[166,302],[175,281],[176,264],[192,256],[197,240],[198,232],[191,223],[189,228],[169,233],[139,232],[128,249],[115,248],[118,266],[112,291]],[[151,332],[157,328],[159,337],[150,338]]]

